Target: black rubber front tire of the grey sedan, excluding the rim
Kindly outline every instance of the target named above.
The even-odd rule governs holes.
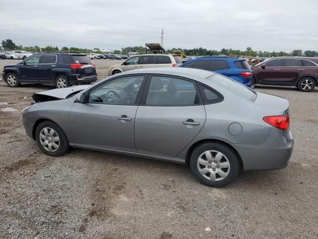
[[[57,135],[59,137],[58,148],[56,151],[50,152],[50,151],[48,151],[48,149],[46,149],[42,145],[42,143],[40,141],[40,133],[41,133],[42,129],[44,129],[44,128],[53,129],[56,132],[56,134],[54,134],[54,135]],[[49,131],[49,132],[51,132],[51,131]],[[56,136],[54,136],[54,137],[56,137]],[[38,146],[42,150],[42,152],[47,154],[47,155],[50,155],[50,156],[54,156],[54,157],[61,156],[65,153],[67,153],[70,149],[69,140],[67,139],[62,128],[53,121],[47,120],[47,121],[43,121],[42,123],[40,123],[35,130],[35,139],[36,139],[36,143],[38,144]],[[41,139],[41,140],[43,140],[43,139]],[[45,146],[48,146],[48,144]],[[54,146],[51,146],[51,148],[54,149]]]

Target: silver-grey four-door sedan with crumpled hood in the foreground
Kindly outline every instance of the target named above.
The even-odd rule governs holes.
[[[204,70],[134,70],[33,99],[24,128],[51,156],[72,146],[188,164],[221,187],[240,170],[286,167],[293,150],[286,99]]]

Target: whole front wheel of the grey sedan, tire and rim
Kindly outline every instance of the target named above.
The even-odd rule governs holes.
[[[52,121],[43,121],[37,126],[35,139],[42,152],[50,156],[61,156],[70,149],[62,128]]]

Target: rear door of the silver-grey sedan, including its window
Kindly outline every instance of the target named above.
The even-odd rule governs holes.
[[[205,123],[196,83],[174,76],[152,76],[146,85],[149,87],[144,90],[135,120],[137,152],[176,157]]]

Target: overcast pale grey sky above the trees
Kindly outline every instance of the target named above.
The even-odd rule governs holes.
[[[0,0],[17,45],[318,51],[318,0]]]

